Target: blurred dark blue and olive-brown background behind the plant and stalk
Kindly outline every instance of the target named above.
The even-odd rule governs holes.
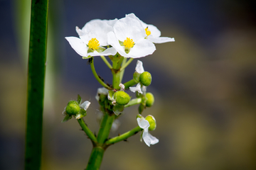
[[[0,0],[0,169],[23,169],[26,130],[26,73],[29,0]],[[87,60],[65,40],[75,26],[135,13],[175,42],[156,44],[140,58],[153,81],[147,91],[155,104],[147,147],[139,134],[105,152],[101,169],[245,170],[256,169],[256,2],[68,1],[49,0],[48,56],[43,115],[42,170],[85,169],[92,145],[78,123],[60,123],[68,101],[89,100],[85,122],[97,132],[97,83]],[[126,69],[132,79],[137,60]],[[95,68],[105,81],[112,74],[100,57]],[[130,94],[132,95],[132,94]],[[124,111],[119,133],[137,126],[137,106]]]

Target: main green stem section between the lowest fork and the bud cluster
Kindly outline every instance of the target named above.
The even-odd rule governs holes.
[[[109,115],[108,113],[104,114],[102,122],[100,123],[100,130],[97,135],[97,141],[99,144],[103,144],[110,135],[110,129],[112,127],[114,118],[114,113],[112,113],[112,115]]]

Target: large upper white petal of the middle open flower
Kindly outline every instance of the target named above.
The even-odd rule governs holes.
[[[113,28],[117,39],[120,41],[131,38],[136,43],[140,38],[146,37],[142,24],[134,18],[121,18],[114,24]]]

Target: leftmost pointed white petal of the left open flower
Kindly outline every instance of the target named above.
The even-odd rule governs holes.
[[[70,43],[71,47],[78,53],[78,55],[87,57],[88,47],[86,44],[80,39],[76,37],[65,37],[66,40]]]

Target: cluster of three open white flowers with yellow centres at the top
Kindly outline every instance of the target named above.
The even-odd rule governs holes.
[[[174,38],[160,37],[160,30],[139,20],[134,13],[119,20],[95,19],[82,29],[76,27],[76,31],[79,38],[66,37],[66,40],[83,58],[117,52],[127,58],[145,57],[156,50],[154,43],[174,41]]]

